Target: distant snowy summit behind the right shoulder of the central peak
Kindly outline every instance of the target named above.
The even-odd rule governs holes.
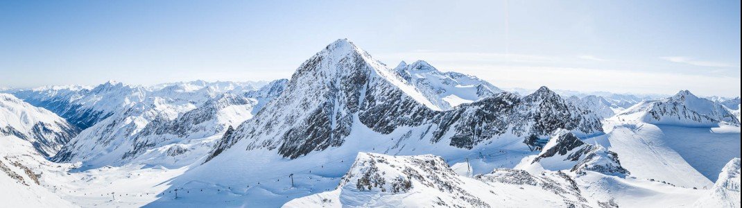
[[[400,62],[393,71],[436,105],[435,110],[450,110],[502,92],[485,80],[453,71],[441,72],[424,61],[411,65]]]

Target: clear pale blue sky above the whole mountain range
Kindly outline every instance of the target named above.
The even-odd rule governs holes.
[[[340,38],[502,88],[740,94],[740,1],[2,1],[0,87],[289,78]]]

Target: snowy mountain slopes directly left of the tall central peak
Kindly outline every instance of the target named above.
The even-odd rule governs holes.
[[[256,107],[279,94],[284,84],[278,80],[247,90],[224,82],[184,82],[145,90],[138,102],[128,100],[132,103],[82,131],[53,160],[91,166],[129,162],[185,166],[206,155],[229,126],[250,119],[259,110]]]

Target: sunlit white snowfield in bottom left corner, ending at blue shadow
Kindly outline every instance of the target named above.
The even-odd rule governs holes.
[[[0,207],[142,207],[165,197],[158,195],[169,187],[165,181],[187,169],[105,166],[80,172],[79,163],[50,162],[14,136],[0,137],[0,163]]]

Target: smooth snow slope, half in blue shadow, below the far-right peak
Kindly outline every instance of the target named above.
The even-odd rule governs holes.
[[[637,178],[710,187],[727,161],[740,157],[740,127],[700,128],[608,121],[607,134],[585,140],[616,152]]]

